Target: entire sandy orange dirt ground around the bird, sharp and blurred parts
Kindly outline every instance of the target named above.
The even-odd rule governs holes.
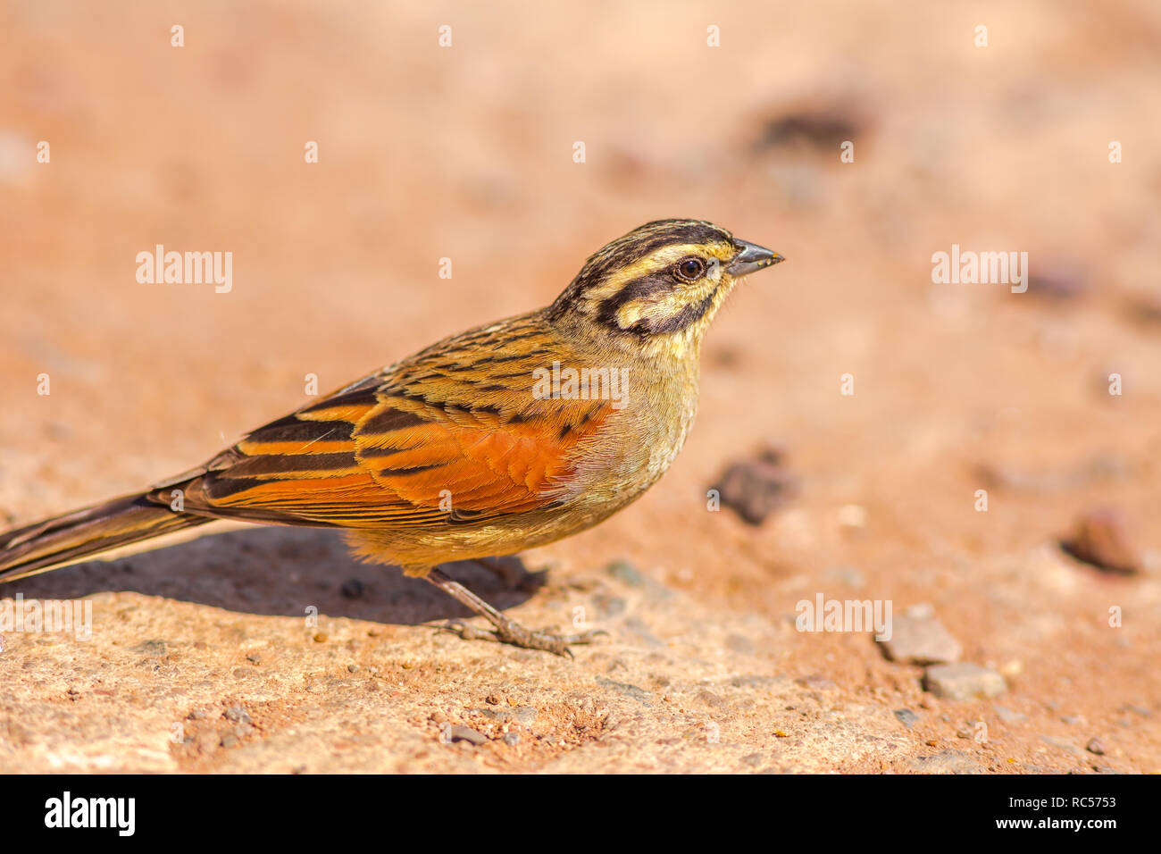
[[[711,330],[670,473],[524,554],[540,587],[454,568],[608,637],[463,641],[334,533],[199,529],[0,588],[93,609],[0,632],[0,773],[1161,772],[1161,6],[0,6],[0,522],[707,218],[787,261]],[[231,289],[139,284],[156,244],[232,252]],[[1027,252],[1027,292],[932,284],[953,244]],[[712,511],[769,446],[796,491]],[[1102,509],[1131,574],[1060,547]],[[799,631],[817,595],[920,607],[1003,692]]]

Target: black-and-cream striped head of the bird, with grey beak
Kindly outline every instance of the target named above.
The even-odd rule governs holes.
[[[600,333],[671,347],[700,342],[734,285],[783,260],[700,220],[658,220],[593,254],[548,309]]]

